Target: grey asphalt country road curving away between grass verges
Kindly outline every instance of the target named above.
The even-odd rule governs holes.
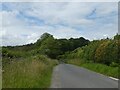
[[[118,81],[82,67],[60,64],[53,70],[51,88],[118,88]]]

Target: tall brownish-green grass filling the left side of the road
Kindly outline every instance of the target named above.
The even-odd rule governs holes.
[[[6,59],[7,60],[7,59]],[[57,61],[38,55],[6,63],[3,58],[3,88],[48,88]]]

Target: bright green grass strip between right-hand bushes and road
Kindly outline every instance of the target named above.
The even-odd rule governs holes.
[[[118,78],[118,67],[111,67],[111,66],[107,66],[107,65],[99,64],[99,63],[90,63],[90,62],[85,63],[78,59],[68,60],[67,63],[74,64],[80,67],[84,67],[89,70],[92,70],[92,71],[95,71],[95,72],[98,72],[98,73],[101,73],[107,76]]]

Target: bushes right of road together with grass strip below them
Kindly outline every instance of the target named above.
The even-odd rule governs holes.
[[[118,77],[120,35],[114,39],[93,40],[88,45],[61,55],[69,64],[82,66],[108,76]]]

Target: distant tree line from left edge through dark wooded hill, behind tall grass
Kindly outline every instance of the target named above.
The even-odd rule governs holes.
[[[40,39],[34,44],[27,44],[21,46],[7,46],[3,47],[2,56],[12,57],[23,57],[34,54],[43,54],[52,59],[58,59],[60,55],[66,52],[73,51],[78,47],[88,45],[89,40],[80,38],[70,39],[55,39],[53,35],[44,33]]]

